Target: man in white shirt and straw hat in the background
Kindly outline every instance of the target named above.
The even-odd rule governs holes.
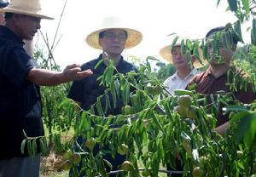
[[[169,94],[174,94],[174,90],[176,89],[186,88],[190,79],[196,74],[201,73],[201,71],[198,71],[196,68],[203,66],[203,61],[205,61],[202,60],[202,52],[200,48],[198,48],[198,56],[200,57],[200,59],[197,59],[195,54],[190,54],[190,52],[189,61],[187,61],[188,55],[186,56],[185,53],[181,52],[182,41],[184,44],[186,43],[185,39],[179,37],[174,46],[167,45],[164,48],[160,49],[160,55],[163,57],[163,59],[172,63],[177,70],[171,77],[168,77],[164,82],[166,90]],[[185,50],[185,45],[183,47]]]

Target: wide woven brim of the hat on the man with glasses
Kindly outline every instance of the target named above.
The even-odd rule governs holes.
[[[133,48],[137,46],[137,44],[141,43],[141,41],[143,40],[143,34],[140,31],[133,30],[131,28],[114,27],[114,28],[103,28],[101,30],[91,32],[85,39],[86,43],[94,49],[102,49],[102,46],[99,44],[99,33],[102,31],[110,30],[110,29],[121,29],[127,32],[125,49]]]

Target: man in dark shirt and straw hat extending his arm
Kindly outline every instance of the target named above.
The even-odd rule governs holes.
[[[0,176],[39,176],[39,142],[35,157],[20,151],[26,136],[44,136],[39,85],[70,82],[91,71],[75,64],[62,72],[39,69],[26,54],[22,41],[32,40],[41,19],[53,19],[44,14],[39,0],[12,0],[0,12],[5,13],[5,25],[0,26]]]

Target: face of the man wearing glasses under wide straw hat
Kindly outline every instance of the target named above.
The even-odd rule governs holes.
[[[104,52],[110,57],[119,56],[125,49],[126,35],[121,29],[110,29],[104,32],[102,38],[99,38],[99,43]]]

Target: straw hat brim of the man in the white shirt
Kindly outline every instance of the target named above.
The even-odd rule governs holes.
[[[180,45],[175,45],[175,46],[180,46]],[[169,63],[173,64],[171,48],[172,48],[171,45],[167,45],[166,47],[160,49],[160,55],[163,59],[165,59]],[[207,64],[207,60],[203,59],[203,53],[202,53],[201,48],[198,48],[198,52],[199,52],[200,59],[196,58],[195,62],[193,63],[193,66],[195,66],[195,68],[201,68],[202,66],[205,66]],[[201,62],[200,62],[200,60],[201,60]]]

